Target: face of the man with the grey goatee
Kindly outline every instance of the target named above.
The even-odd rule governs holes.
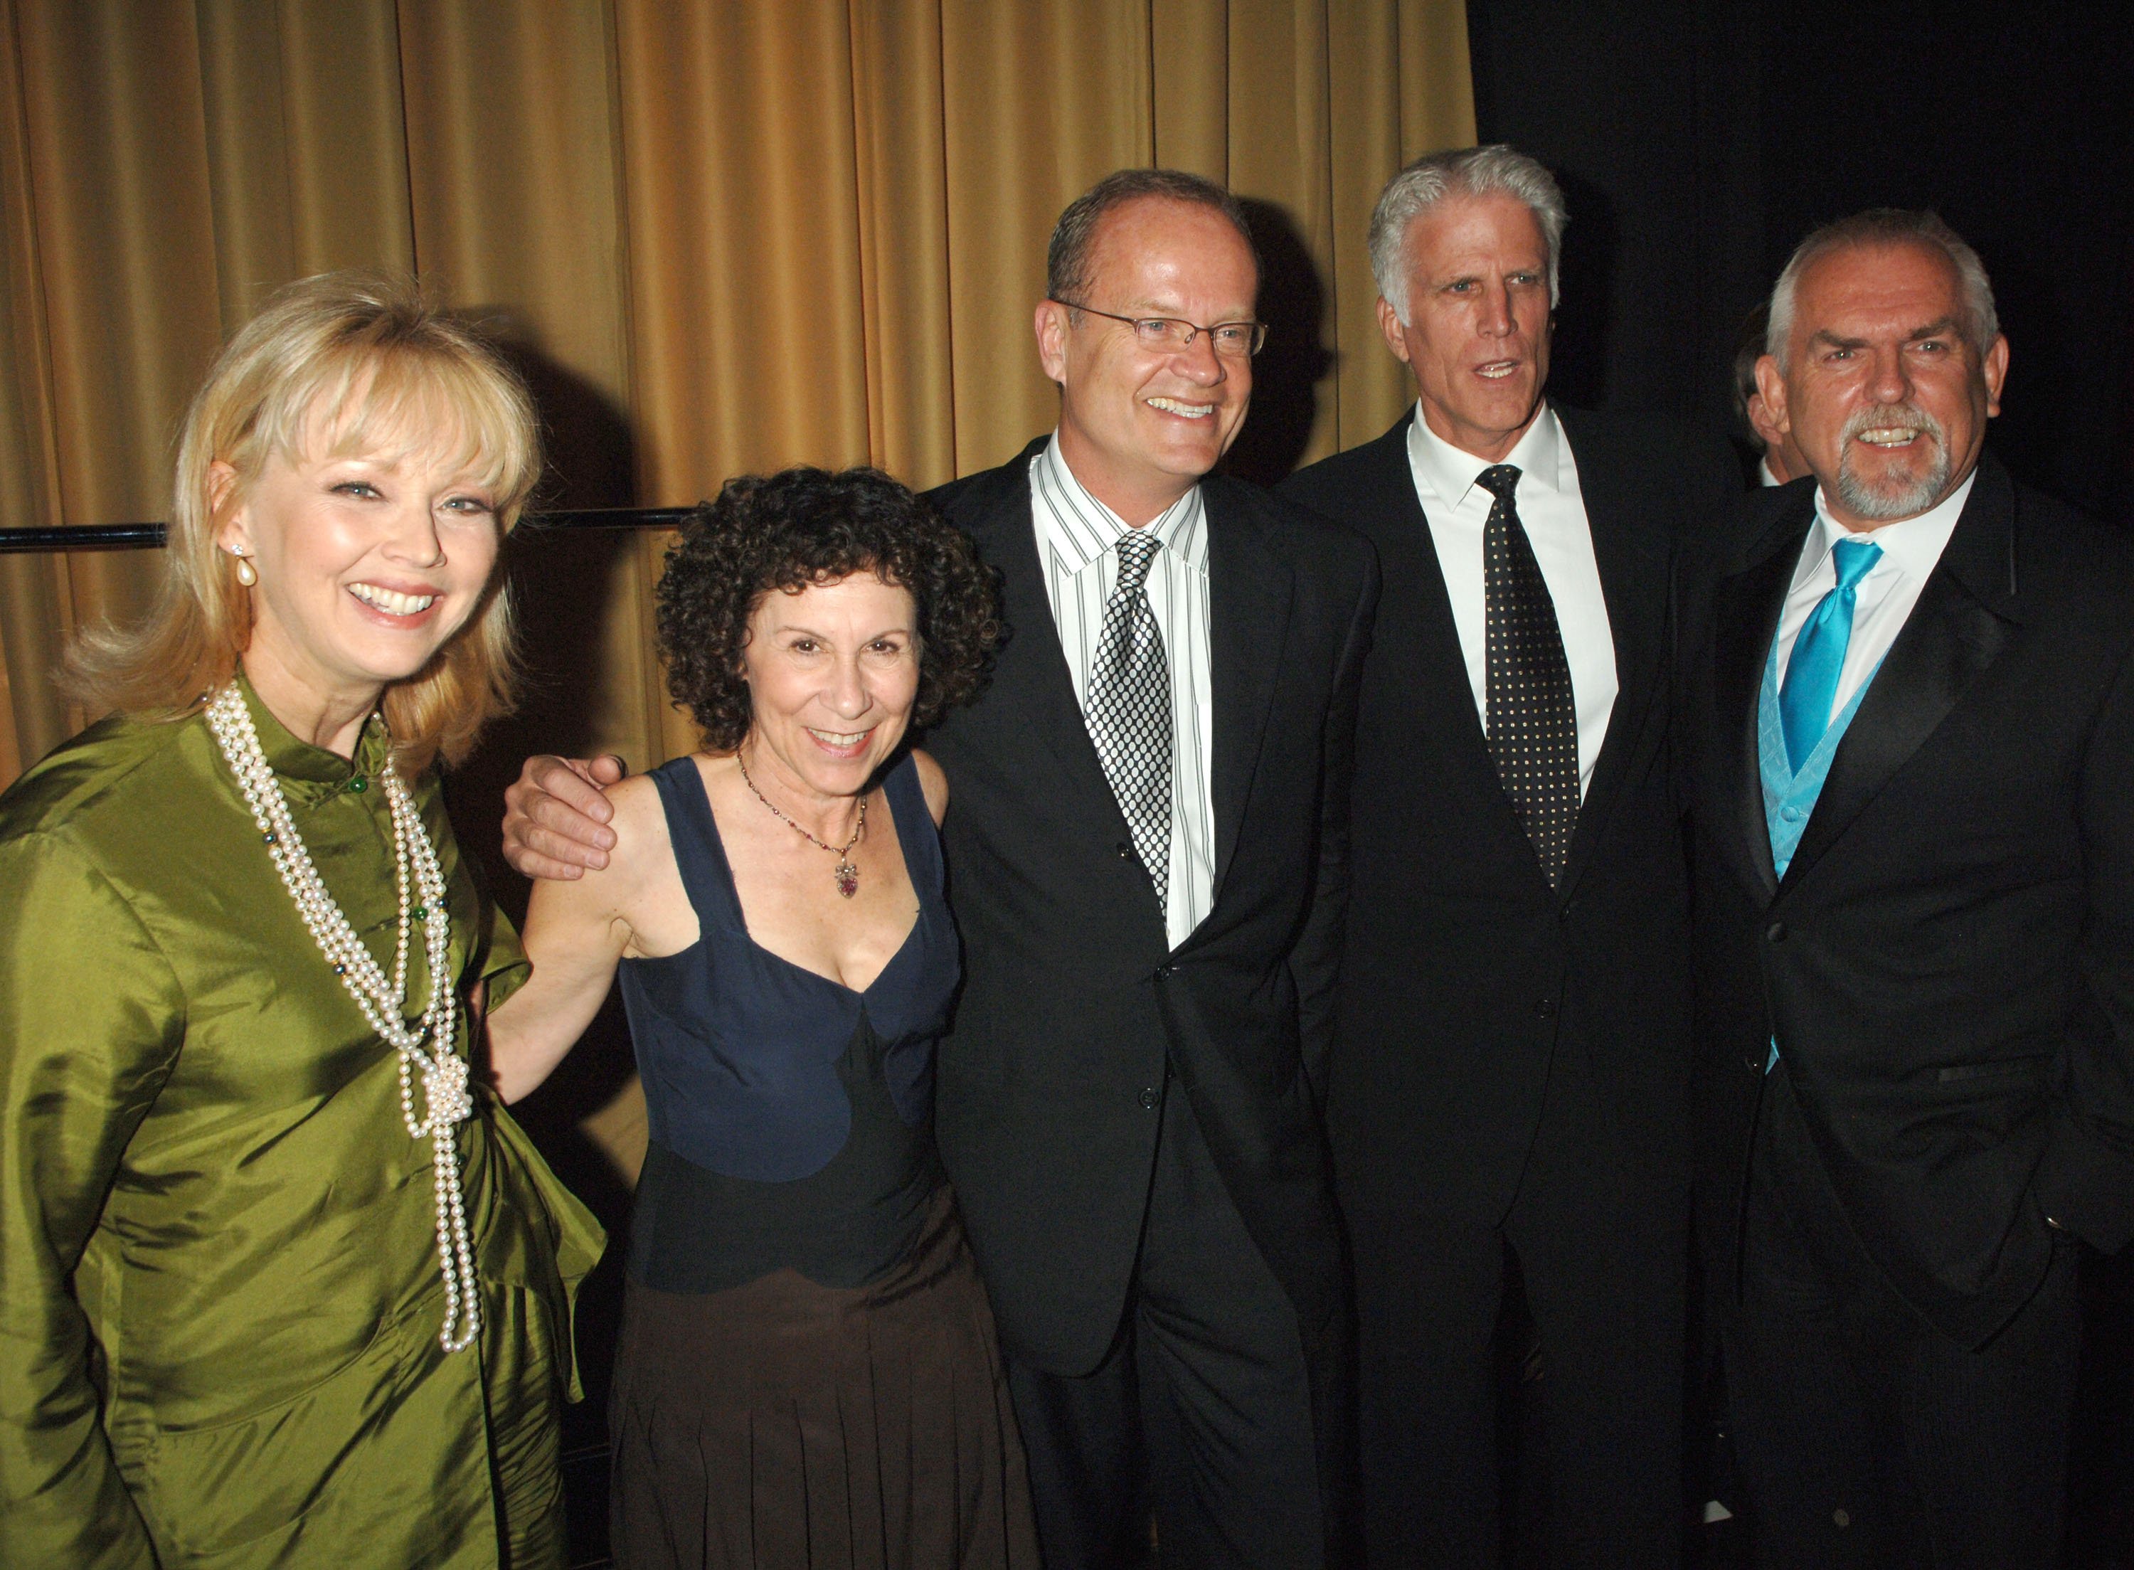
[[[1980,354],[1963,279],[1933,245],[1848,245],[1797,279],[1786,369],[1756,386],[1848,529],[1914,518],[1978,463],[2000,414],[2008,339]]]

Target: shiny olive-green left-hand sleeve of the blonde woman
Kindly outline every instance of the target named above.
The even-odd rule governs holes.
[[[156,941],[77,853],[0,843],[0,1564],[156,1561],[105,1442],[75,1267],[177,1060]]]

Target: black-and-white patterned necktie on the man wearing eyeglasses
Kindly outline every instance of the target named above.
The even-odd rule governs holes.
[[[1161,548],[1152,529],[1118,538],[1118,582],[1088,683],[1088,738],[1159,904],[1172,883],[1172,668],[1148,604],[1148,565]]]

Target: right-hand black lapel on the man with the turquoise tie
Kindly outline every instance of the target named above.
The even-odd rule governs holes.
[[[2000,657],[2017,621],[2012,546],[2014,486],[1997,463],[1980,465],[1948,548],[1837,742],[1780,892],[1801,881]]]

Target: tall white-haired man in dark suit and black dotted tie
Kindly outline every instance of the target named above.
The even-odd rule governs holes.
[[[1539,1337],[1547,1564],[1675,1564],[1688,892],[1667,772],[1675,540],[1724,454],[1543,397],[1562,192],[1509,147],[1379,198],[1417,405],[1285,484],[1379,546],[1327,1086],[1372,1566],[1498,1564],[1500,1352]],[[1366,849],[1368,845],[1368,849]]]

